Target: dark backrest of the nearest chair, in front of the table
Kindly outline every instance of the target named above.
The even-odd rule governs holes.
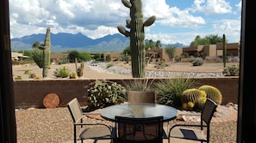
[[[116,142],[161,143],[163,116],[130,118],[116,116]]]

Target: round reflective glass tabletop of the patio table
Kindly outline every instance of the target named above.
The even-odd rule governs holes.
[[[164,104],[116,104],[101,110],[101,116],[106,120],[115,122],[115,116],[134,118],[163,116],[164,122],[176,118],[178,110]]]

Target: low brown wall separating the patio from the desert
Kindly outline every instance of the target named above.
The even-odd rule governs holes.
[[[198,83],[197,86],[217,87],[222,92],[222,104],[238,103],[238,77],[194,78],[194,80]],[[93,81],[95,80],[14,80],[16,109],[45,108],[43,99],[49,93],[55,93],[59,96],[60,107],[66,107],[66,104],[75,97],[78,98],[81,105],[86,105],[86,86]],[[112,81],[123,84],[127,79]]]

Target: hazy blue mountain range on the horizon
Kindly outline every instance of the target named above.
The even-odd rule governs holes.
[[[129,45],[129,38],[116,33],[99,39],[91,39],[82,33],[51,33],[51,51],[88,51],[88,52],[122,52]],[[10,39],[12,51],[31,50],[35,41],[44,43],[45,34],[32,34],[22,38]],[[146,39],[146,42],[148,39]],[[162,45],[162,47],[185,47],[179,43]]]

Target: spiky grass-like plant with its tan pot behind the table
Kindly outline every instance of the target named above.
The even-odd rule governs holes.
[[[153,80],[134,79],[126,82],[129,103],[156,103]]]

